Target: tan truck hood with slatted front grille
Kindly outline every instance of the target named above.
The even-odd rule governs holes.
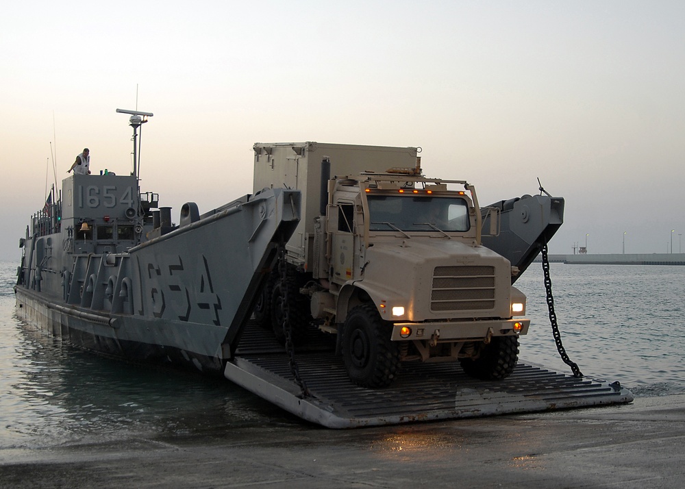
[[[385,304],[388,320],[510,316],[510,262],[486,247],[454,238],[397,238],[374,242],[364,264],[356,286]],[[406,314],[391,318],[394,305]]]

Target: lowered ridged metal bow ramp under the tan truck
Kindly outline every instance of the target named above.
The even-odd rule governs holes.
[[[479,381],[458,363],[407,362],[389,388],[366,389],[347,378],[340,357],[322,342],[296,360],[310,391],[300,398],[283,348],[250,327],[225,377],[306,421],[329,428],[395,425],[456,418],[630,403],[617,382],[575,378],[522,364],[503,381]],[[256,341],[262,345],[257,351]],[[245,347],[242,344],[245,343]]]

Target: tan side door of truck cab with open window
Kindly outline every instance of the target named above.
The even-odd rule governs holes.
[[[344,283],[353,278],[358,261],[355,253],[354,204],[339,202],[334,207],[338,208],[338,218],[334,229],[331,229],[332,278],[338,283]]]

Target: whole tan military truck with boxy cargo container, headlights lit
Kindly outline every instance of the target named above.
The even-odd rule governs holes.
[[[423,175],[414,147],[256,143],[254,192],[292,188],[301,216],[255,309],[294,338],[336,336],[352,381],[388,386],[401,363],[458,361],[503,379],[530,321],[518,270],[482,245],[499,231],[475,188]],[[487,218],[488,229],[484,229]],[[284,265],[284,266],[283,266]]]

